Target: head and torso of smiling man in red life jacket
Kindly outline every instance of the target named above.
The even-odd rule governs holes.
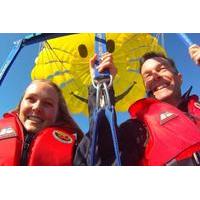
[[[129,109],[131,116],[141,120],[148,130],[140,163],[199,165],[198,97],[190,97],[190,91],[181,96],[182,75],[173,60],[164,55],[147,53],[140,66],[146,90],[153,97],[140,100]]]

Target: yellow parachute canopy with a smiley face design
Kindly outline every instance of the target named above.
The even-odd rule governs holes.
[[[139,58],[146,52],[165,50],[155,37],[142,33],[107,33],[107,49],[113,54],[118,74],[113,82],[116,111],[125,112],[145,96],[139,74]],[[88,115],[89,60],[94,55],[94,33],[48,40],[35,60],[31,78],[49,79],[62,90],[69,110]]]

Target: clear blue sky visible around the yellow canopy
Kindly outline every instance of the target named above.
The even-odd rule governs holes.
[[[13,42],[24,38],[26,34],[1,33],[0,34],[0,66],[10,53]],[[200,44],[200,34],[188,34],[190,39]],[[177,34],[164,34],[165,49],[168,56],[173,58],[179,71],[183,74],[183,86],[185,91],[190,85],[193,86],[193,93],[200,94],[200,67],[197,67],[188,55],[188,49]],[[39,52],[39,45],[34,44],[24,47],[12,65],[5,80],[0,86],[0,116],[6,111],[14,108],[20,100],[26,86],[30,82],[29,73],[34,65],[34,59]],[[88,120],[82,115],[74,116],[84,132],[88,130]],[[128,118],[127,113],[118,113],[118,123]]]

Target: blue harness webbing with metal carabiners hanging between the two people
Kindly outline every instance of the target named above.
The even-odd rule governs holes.
[[[105,39],[105,34],[95,34],[95,53],[97,54],[98,62],[95,63],[95,68],[100,64],[100,58],[105,53],[106,50],[106,39]],[[101,117],[105,113],[105,116],[109,122],[110,129],[111,129],[111,134],[112,134],[112,141],[113,141],[113,146],[114,146],[114,152],[115,152],[115,157],[116,157],[116,165],[121,165],[120,161],[120,154],[119,154],[119,147],[118,147],[118,140],[117,140],[117,131],[115,128],[115,110],[114,106],[111,105],[110,103],[110,97],[108,93],[108,87],[112,83],[112,77],[110,78],[110,73],[106,71],[105,73],[99,73],[97,69],[95,70],[94,74],[94,80],[93,80],[93,85],[97,90],[96,93],[96,109],[94,110],[93,113],[93,120],[94,120],[94,126],[92,127],[92,143],[91,143],[91,165],[96,164],[95,160],[95,154],[96,154],[96,146],[97,146],[97,141],[98,141],[98,136],[99,136],[99,129],[98,129],[98,122],[101,121]],[[108,84],[108,81],[110,82]],[[96,84],[96,85],[95,85]],[[108,86],[109,85],[109,86]]]

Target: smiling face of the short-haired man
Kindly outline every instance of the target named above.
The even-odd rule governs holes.
[[[176,104],[181,97],[182,76],[162,58],[150,58],[142,65],[141,74],[146,90],[161,101]]]

